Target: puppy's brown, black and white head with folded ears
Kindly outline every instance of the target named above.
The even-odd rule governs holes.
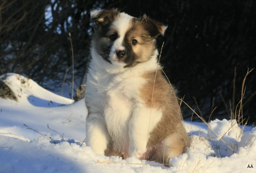
[[[155,38],[167,26],[146,15],[135,18],[114,10],[94,10],[92,47],[108,63],[124,68],[149,60],[156,51]]]

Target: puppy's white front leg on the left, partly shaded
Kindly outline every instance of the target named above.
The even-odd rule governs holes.
[[[103,154],[109,143],[109,133],[104,118],[99,113],[90,113],[86,119],[87,146],[91,147],[97,154]]]

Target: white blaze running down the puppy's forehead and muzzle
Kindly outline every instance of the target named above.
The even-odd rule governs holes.
[[[109,60],[111,61],[111,63],[115,65],[118,65],[118,66],[127,65],[126,63],[124,63],[123,61],[120,61],[117,58],[116,51],[118,50],[125,51],[125,47],[123,47],[123,40],[128,28],[130,27],[130,22],[132,21],[132,19],[133,19],[133,16],[130,16],[126,13],[120,13],[120,16],[118,17],[118,19],[116,19],[113,22],[113,25],[111,26],[111,28],[116,30],[118,34],[118,38],[114,41],[109,54]]]

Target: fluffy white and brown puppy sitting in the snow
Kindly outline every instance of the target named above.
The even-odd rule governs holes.
[[[167,26],[146,15],[94,10],[85,101],[86,144],[98,154],[169,165],[188,135],[175,91],[161,73],[155,38]]]

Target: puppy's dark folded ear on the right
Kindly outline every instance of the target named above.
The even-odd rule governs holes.
[[[145,14],[140,18],[140,20],[143,27],[148,31],[152,38],[156,38],[158,35],[164,35],[164,32],[167,29],[167,26],[163,25],[159,21],[150,19]]]

